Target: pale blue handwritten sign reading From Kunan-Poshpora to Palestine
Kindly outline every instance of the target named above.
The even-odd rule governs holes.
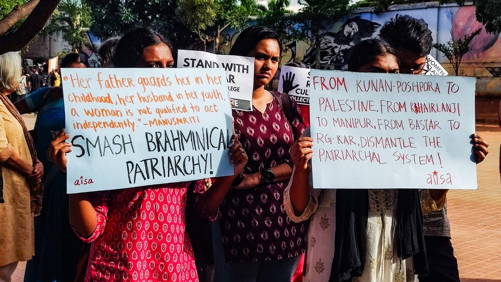
[[[475,78],[312,69],[310,84],[314,188],[477,188]]]

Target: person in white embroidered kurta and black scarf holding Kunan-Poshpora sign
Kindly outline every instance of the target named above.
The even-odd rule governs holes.
[[[396,52],[381,40],[364,40],[353,47],[348,68],[359,72],[398,72]],[[284,206],[293,221],[317,215],[310,219],[307,265],[322,266],[322,271],[307,270],[307,279],[342,281],[356,277],[360,281],[381,281],[398,277],[397,280],[413,281],[414,273],[426,274],[418,191],[312,191],[314,149],[308,133],[291,148],[295,167],[284,196]],[[424,212],[438,210],[429,194],[421,194],[421,198]]]

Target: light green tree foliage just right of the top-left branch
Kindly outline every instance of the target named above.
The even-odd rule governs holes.
[[[87,30],[92,24],[91,9],[81,0],[63,0],[52,15],[49,33],[61,31],[72,50],[87,43]]]

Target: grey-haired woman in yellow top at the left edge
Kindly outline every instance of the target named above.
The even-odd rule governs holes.
[[[0,282],[34,254],[33,217],[42,209],[44,168],[25,122],[7,95],[16,91],[21,56],[0,55]]]

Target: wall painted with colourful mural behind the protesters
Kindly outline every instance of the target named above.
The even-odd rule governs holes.
[[[323,34],[321,42],[321,65],[324,69],[347,68],[350,49],[365,38],[376,37],[381,26],[395,15],[410,15],[424,19],[432,31],[434,42],[446,43],[451,39],[469,35],[482,24],[475,19],[475,7],[472,5],[459,7],[456,5],[440,6],[438,3],[413,5],[396,5],[391,11],[375,14],[372,12],[355,13],[334,24]],[[366,9],[366,11],[369,11]],[[452,34],[452,35],[451,35]],[[223,33],[221,42],[225,42],[224,52],[228,52],[238,34],[228,30]],[[283,54],[282,64],[294,61],[315,62],[315,50],[305,42],[286,44],[289,50]],[[488,34],[485,29],[470,44],[471,51],[463,57],[459,75],[492,77],[486,67],[501,67],[501,37],[499,34]],[[436,49],[434,56],[449,73],[453,73],[447,58]]]

